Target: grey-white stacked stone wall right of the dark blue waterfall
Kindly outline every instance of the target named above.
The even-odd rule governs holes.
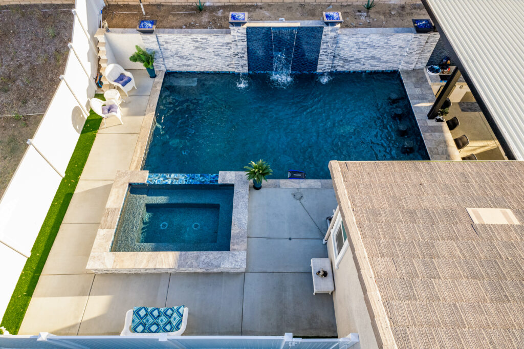
[[[438,39],[412,28],[340,29],[331,70],[421,69]]]

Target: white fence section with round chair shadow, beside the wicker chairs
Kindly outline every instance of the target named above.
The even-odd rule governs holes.
[[[84,82],[86,79],[84,75]],[[85,92],[83,96],[85,98]],[[65,173],[84,123],[79,104],[67,85],[60,81],[32,143],[56,169]]]

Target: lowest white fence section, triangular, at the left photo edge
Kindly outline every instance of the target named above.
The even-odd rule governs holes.
[[[0,243],[0,268],[2,268],[2,287],[0,287],[0,319],[4,317],[9,299],[20,277],[27,258],[14,249]]]

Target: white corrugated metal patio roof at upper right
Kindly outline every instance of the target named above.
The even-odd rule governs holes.
[[[518,160],[524,160],[524,1],[425,0]]]

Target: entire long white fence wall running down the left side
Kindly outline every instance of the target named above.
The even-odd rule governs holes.
[[[103,0],[77,1],[78,18],[73,24],[72,43],[78,58],[70,51],[64,73],[71,89],[88,108],[89,97],[95,92],[90,77],[95,77],[98,68],[93,35],[103,6]],[[92,42],[82,30],[79,19],[84,21]],[[84,122],[79,103],[65,83],[60,82],[32,140],[40,153],[29,146],[0,200],[0,266],[8,268],[0,278],[0,319],[62,179],[57,171],[65,172]],[[43,345],[37,347],[46,347]],[[20,347],[28,346],[21,344]]]

